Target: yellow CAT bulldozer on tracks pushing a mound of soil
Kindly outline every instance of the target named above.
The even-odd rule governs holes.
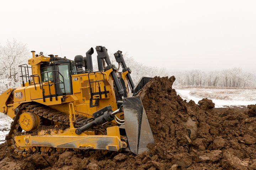
[[[18,66],[21,87],[0,95],[0,111],[14,120],[6,136],[14,157],[70,150],[139,154],[154,143],[142,101],[135,96],[151,78],[135,86],[122,51],[114,54],[116,68],[104,46],[95,49],[98,71],[92,66],[93,48],[74,60],[31,51],[28,65]]]

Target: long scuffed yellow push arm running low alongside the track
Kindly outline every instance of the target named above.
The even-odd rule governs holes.
[[[68,135],[69,134],[69,135]],[[69,129],[63,135],[15,136],[15,142],[21,147],[55,147],[55,148],[78,148],[78,149],[106,149],[119,151],[127,146],[117,136],[108,135],[80,135],[75,134],[75,129]],[[25,142],[26,141],[26,142]]]

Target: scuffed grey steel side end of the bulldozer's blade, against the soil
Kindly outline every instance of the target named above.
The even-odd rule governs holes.
[[[123,100],[124,122],[130,151],[140,154],[154,143],[153,134],[139,97],[127,97]]]

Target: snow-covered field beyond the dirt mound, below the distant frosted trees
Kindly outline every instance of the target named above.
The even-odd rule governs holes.
[[[178,95],[184,100],[193,100],[198,103],[202,98],[213,100],[215,107],[247,106],[256,104],[256,89],[176,89]]]

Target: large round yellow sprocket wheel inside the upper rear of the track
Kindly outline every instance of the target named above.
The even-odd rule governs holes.
[[[38,115],[32,112],[24,112],[20,115],[19,123],[23,130],[31,131],[36,129],[39,125],[39,117]]]

